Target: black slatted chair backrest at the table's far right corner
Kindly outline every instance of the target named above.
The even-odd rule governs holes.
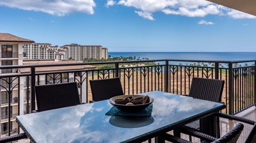
[[[221,102],[223,88],[224,80],[193,77],[189,96],[211,102]]]

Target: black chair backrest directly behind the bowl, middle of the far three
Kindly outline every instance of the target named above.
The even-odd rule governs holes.
[[[110,99],[117,95],[123,95],[120,78],[90,80],[93,101]]]

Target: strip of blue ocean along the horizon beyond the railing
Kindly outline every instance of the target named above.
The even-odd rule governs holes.
[[[256,52],[109,52],[109,56],[136,56],[140,59],[256,60]]]

